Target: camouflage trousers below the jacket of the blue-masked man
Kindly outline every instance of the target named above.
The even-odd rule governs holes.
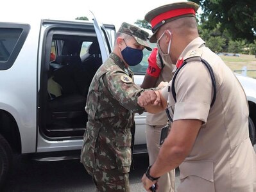
[[[85,169],[92,173],[96,192],[130,192],[129,173],[121,173],[119,170],[91,170],[87,166]]]

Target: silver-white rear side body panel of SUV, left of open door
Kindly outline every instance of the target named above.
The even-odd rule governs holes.
[[[0,27],[2,24],[0,22]],[[19,129],[23,130],[20,131],[22,153],[35,152],[36,147],[38,47],[35,40],[38,41],[39,30],[40,22],[30,27],[29,35],[12,67],[0,70],[0,109],[10,113]],[[15,81],[10,81],[12,79]]]

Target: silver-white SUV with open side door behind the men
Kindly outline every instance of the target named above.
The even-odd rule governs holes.
[[[80,156],[88,88],[112,51],[114,35],[114,25],[95,19],[0,22],[0,186],[13,166],[13,154],[30,154],[38,161]],[[137,84],[148,55],[133,67]],[[252,89],[245,90],[255,136],[256,80],[241,80],[244,86],[251,83]],[[146,152],[145,117],[135,116],[135,153]]]

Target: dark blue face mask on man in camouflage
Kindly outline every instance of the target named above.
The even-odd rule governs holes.
[[[125,42],[124,42],[125,43]],[[126,45],[125,49],[121,51],[124,61],[130,65],[135,66],[141,63],[143,58],[143,52],[141,49],[134,49]]]

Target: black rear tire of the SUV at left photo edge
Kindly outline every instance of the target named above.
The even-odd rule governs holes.
[[[4,182],[10,173],[12,161],[12,148],[0,134],[0,189],[3,188]]]

